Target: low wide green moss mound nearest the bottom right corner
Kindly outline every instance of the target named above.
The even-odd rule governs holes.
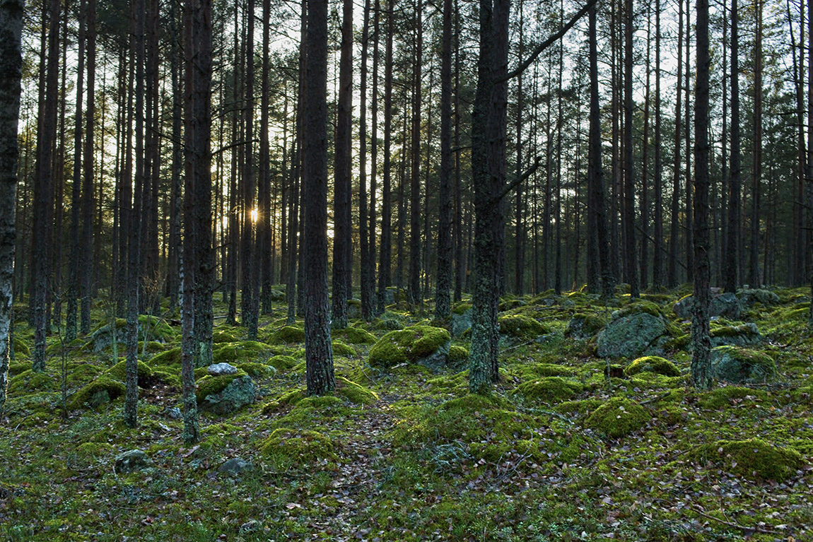
[[[718,440],[689,453],[699,463],[715,462],[724,470],[755,479],[782,481],[802,466],[802,455],[762,439]]]

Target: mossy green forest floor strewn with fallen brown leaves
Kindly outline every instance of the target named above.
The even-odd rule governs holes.
[[[281,305],[254,343],[217,319],[215,361],[248,372],[257,397],[203,413],[189,447],[175,410],[180,328],[145,320],[140,423],[129,429],[101,306],[93,335],[63,345],[54,330],[45,375],[30,371],[18,306],[0,540],[813,540],[809,292],[772,292],[721,320],[717,336],[754,323],[746,353],[767,354],[776,375],[703,392],[689,385],[689,322],[672,310],[688,287],[644,301],[619,293],[612,306],[585,293],[506,297],[502,315],[536,323],[501,341],[492,397],[468,395],[466,372],[370,364],[372,341],[390,330],[441,325],[403,305],[337,333],[343,379],[327,398],[303,397],[302,321],[285,327]],[[636,374],[631,356],[598,357],[596,332],[636,307],[665,323],[650,348],[672,366],[650,360]],[[574,319],[591,325],[580,335]],[[467,349],[467,334],[451,344]],[[93,393],[102,384],[107,394]],[[149,465],[118,472],[115,458],[133,449]],[[234,457],[253,469],[221,473]]]

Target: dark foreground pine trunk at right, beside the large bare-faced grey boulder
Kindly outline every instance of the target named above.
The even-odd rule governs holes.
[[[698,77],[694,87],[694,299],[692,311],[692,384],[710,388],[709,337],[709,4],[697,0]]]

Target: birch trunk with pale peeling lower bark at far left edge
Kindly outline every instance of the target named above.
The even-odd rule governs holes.
[[[17,124],[20,119],[20,80],[23,56],[22,0],[0,3],[0,421],[6,405],[9,350],[12,346],[11,305],[15,259],[17,198]]]

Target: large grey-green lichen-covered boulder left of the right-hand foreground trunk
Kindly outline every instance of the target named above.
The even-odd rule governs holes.
[[[649,312],[621,314],[598,334],[598,355],[602,358],[637,358],[666,333],[666,323],[659,315]]]

